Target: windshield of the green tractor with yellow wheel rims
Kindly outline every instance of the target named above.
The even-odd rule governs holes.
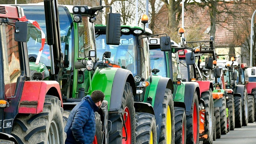
[[[105,34],[96,35],[97,58],[102,60],[104,52],[110,51],[111,57],[107,59],[108,64],[128,69],[135,75],[137,73],[137,56],[134,39],[134,35],[122,35],[119,45],[107,45]]]

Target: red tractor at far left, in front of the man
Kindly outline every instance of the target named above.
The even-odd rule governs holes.
[[[56,81],[31,81],[27,22],[19,6],[0,6],[0,141],[64,143],[62,98]],[[8,13],[7,13],[8,12]]]

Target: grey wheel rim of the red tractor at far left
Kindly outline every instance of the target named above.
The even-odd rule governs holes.
[[[48,144],[56,144],[60,143],[58,126],[55,120],[53,120],[50,124],[50,129],[48,133]]]

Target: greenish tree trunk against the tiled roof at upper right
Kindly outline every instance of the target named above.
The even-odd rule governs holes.
[[[211,20],[211,29],[210,29],[210,35],[215,37],[216,32],[216,11],[217,11],[217,2],[213,1],[210,9],[210,20]]]

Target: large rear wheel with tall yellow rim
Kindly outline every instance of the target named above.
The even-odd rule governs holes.
[[[174,144],[174,107],[170,89],[165,89],[159,144]]]

